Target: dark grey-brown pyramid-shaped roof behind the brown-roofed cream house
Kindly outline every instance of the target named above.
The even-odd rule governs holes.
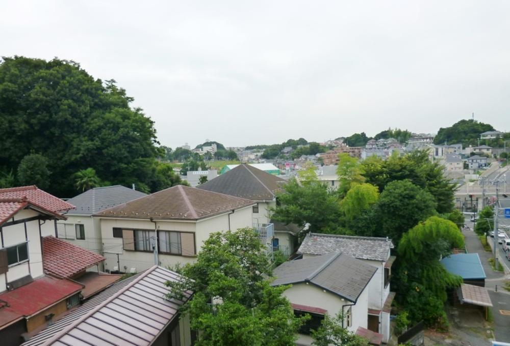
[[[273,200],[282,183],[285,183],[282,178],[251,165],[240,164],[198,188],[251,200]]]

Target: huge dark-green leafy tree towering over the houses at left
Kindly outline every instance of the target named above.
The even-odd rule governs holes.
[[[73,174],[94,167],[113,184],[128,185],[125,172],[146,178],[163,155],[154,122],[131,106],[114,80],[94,79],[78,63],[53,59],[4,57],[0,63],[0,162],[15,171],[36,152],[48,160],[48,192],[74,194]],[[143,170],[143,169],[148,169]],[[17,174],[16,174],[17,175]],[[127,176],[131,180],[132,176]]]

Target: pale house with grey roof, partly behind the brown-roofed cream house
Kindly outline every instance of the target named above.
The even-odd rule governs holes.
[[[57,222],[57,236],[71,244],[100,253],[103,241],[99,219],[92,215],[143,196],[146,194],[122,185],[95,187],[80,193],[67,200],[75,208],[66,213],[66,220]],[[43,236],[49,235],[55,233],[43,233]]]

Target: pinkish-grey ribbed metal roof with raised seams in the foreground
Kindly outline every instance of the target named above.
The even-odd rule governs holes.
[[[112,285],[23,345],[74,345],[82,338],[89,345],[149,345],[184,303],[165,298],[165,282],[176,280],[180,280],[177,273],[149,268]],[[191,295],[187,292],[184,301]]]

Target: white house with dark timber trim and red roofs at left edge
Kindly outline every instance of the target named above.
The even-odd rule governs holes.
[[[80,302],[83,285],[45,276],[41,234],[73,208],[36,186],[0,189],[0,340],[18,345],[23,333],[51,323]]]

